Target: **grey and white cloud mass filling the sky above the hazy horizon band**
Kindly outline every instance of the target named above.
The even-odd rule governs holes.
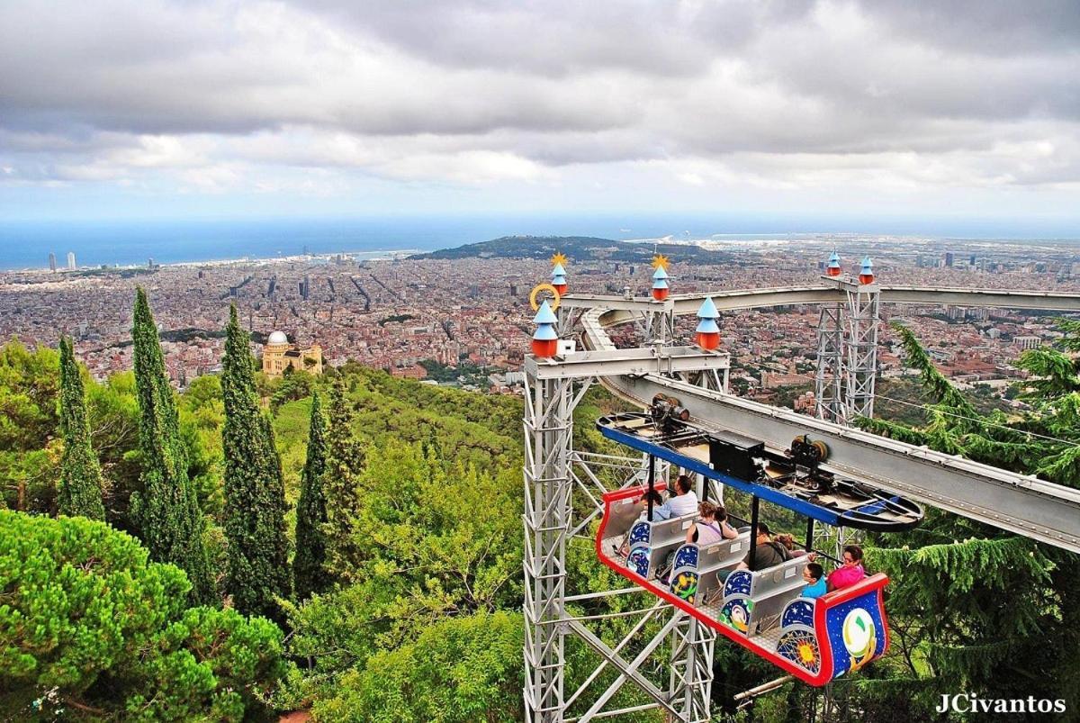
[[[951,162],[1076,134],[1078,32],[1076,2],[6,3],[0,160],[105,175],[141,135],[201,134],[220,138],[200,150],[212,160],[301,168],[484,151],[550,168]],[[303,134],[309,148],[267,140]],[[316,147],[337,136],[349,153]],[[1059,183],[1076,161],[1011,177]]]

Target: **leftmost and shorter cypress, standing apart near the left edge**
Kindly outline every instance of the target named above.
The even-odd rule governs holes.
[[[59,513],[105,520],[102,504],[102,468],[90,444],[90,421],[79,364],[71,339],[60,337],[60,431],[64,458],[60,461]]]

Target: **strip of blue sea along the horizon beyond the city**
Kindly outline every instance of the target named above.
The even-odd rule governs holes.
[[[45,269],[49,254],[66,268],[179,264],[311,254],[434,251],[502,236],[669,238],[725,242],[809,236],[930,235],[982,239],[1048,238],[1018,224],[971,225],[934,219],[823,219],[782,214],[490,214],[262,220],[49,222],[0,224],[0,269]],[[1054,229],[1056,230],[1056,229]]]

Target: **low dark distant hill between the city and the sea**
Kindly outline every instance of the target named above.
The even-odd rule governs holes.
[[[629,243],[591,236],[504,236],[456,249],[414,254],[409,258],[548,258],[556,251],[575,262],[647,262],[654,252],[671,256],[673,260],[699,264],[723,264],[732,259],[727,252],[689,244]]]

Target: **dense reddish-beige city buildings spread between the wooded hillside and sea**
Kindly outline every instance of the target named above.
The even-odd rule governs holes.
[[[834,249],[849,270],[864,254],[873,256],[878,279],[887,284],[1080,291],[1075,249],[1049,243],[948,242],[946,250],[929,240],[813,237],[713,245],[730,252],[733,260],[689,265],[673,257],[672,293],[815,284]],[[69,255],[69,266],[72,260]],[[258,344],[280,333],[266,356],[271,369],[264,361],[270,375],[293,362],[319,371],[324,361],[339,365],[355,360],[416,378],[427,376],[433,364],[467,364],[494,367],[490,384],[499,389],[517,379],[507,373],[519,369],[528,348],[528,292],[548,281],[550,271],[543,259],[356,260],[342,254],[60,273],[8,271],[0,273],[0,334],[50,346],[59,334],[70,334],[76,354],[95,376],[131,369],[131,308],[135,286],[141,285],[162,326],[168,373],[180,386],[218,369],[221,330],[234,303]],[[629,287],[647,295],[651,282],[651,269],[644,264],[598,257],[571,258],[567,272],[571,292],[623,293]],[[1015,375],[1012,362],[1024,349],[1056,336],[1051,313],[885,306],[882,314],[908,324],[945,373],[964,384],[1000,386]],[[809,383],[816,320],[815,308],[799,306],[720,319],[734,387],[768,394]],[[894,339],[888,331],[883,337],[879,373],[901,375]],[[259,352],[265,353],[262,347]],[[316,361],[305,363],[309,358]]]

